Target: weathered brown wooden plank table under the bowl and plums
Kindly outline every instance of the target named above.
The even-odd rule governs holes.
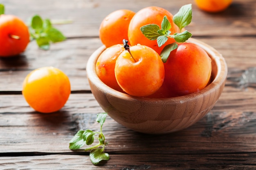
[[[27,21],[34,14],[51,20],[67,40],[49,51],[36,42],[16,58],[0,59],[0,169],[94,170],[254,170],[256,169],[256,1],[234,0],[221,13],[200,11],[191,0],[2,0],[7,14]],[[187,29],[193,38],[217,49],[228,65],[228,78],[213,109],[195,125],[165,135],[140,134],[110,117],[103,125],[110,160],[100,166],[89,152],[71,151],[69,141],[80,129],[98,130],[103,112],[86,78],[86,62],[100,47],[99,25],[117,9],[138,11],[159,6],[177,13],[193,4]],[[72,94],[56,113],[40,114],[21,94],[22,81],[31,70],[54,66],[71,81]]]

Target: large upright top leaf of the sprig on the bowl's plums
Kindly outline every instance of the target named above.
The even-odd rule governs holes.
[[[173,16],[173,22],[182,30],[192,20],[192,4],[186,4]]]

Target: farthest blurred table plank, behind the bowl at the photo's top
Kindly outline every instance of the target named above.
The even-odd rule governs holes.
[[[187,28],[194,36],[243,36],[256,35],[254,0],[234,0],[233,4],[221,13],[206,13],[196,7],[195,2],[179,0],[129,1],[126,0],[94,0],[94,1],[45,1],[45,0],[2,0],[6,5],[6,13],[15,14],[27,21],[34,14],[52,20],[72,20],[71,24],[57,25],[67,37],[99,36],[99,25],[103,18],[117,9],[130,9],[137,12],[147,6],[164,7],[171,13],[177,13],[184,4],[193,4],[193,20]],[[17,10],[17,4],[18,9]],[[115,4],[115,5],[113,5]],[[125,4],[125,7],[124,7]],[[218,29],[221,28],[221,29]]]

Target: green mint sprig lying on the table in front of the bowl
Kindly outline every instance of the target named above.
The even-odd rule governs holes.
[[[87,130],[79,130],[75,136],[70,140],[69,148],[71,150],[77,150],[86,145],[91,145],[94,142],[94,139],[98,139],[99,143],[90,147],[86,148],[85,150],[90,150],[90,159],[94,165],[99,164],[100,161],[110,159],[108,153],[104,152],[105,146],[108,142],[105,142],[105,136],[102,133],[102,126],[106,120],[108,113],[100,113],[97,114],[96,121],[100,124],[100,132],[93,132],[90,129]],[[98,136],[96,136],[98,135]]]

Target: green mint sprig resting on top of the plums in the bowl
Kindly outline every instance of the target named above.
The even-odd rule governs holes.
[[[188,40],[192,34],[187,30],[182,32],[182,29],[189,25],[191,20],[192,4],[186,4],[182,6],[178,13],[173,16],[173,22],[179,27],[181,33],[174,33],[171,35],[171,23],[166,16],[164,16],[162,20],[161,28],[156,24],[148,24],[142,26],[140,30],[142,34],[149,40],[157,40],[158,47],[161,47],[166,43],[168,38],[174,38],[176,42],[185,42]],[[160,56],[164,63],[166,62],[171,51],[178,47],[176,42],[171,45],[166,45],[162,50]]]

